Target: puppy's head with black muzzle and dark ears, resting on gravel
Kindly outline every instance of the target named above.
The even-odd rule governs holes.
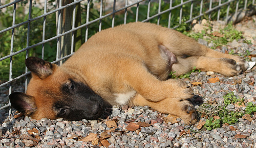
[[[25,64],[32,73],[27,93],[9,95],[17,111],[35,119],[81,120],[102,115],[102,98],[74,71],[35,57]]]

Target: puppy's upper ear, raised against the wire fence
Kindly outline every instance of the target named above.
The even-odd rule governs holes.
[[[32,75],[36,75],[40,79],[46,79],[48,76],[52,75],[54,68],[57,66],[36,57],[29,57],[25,60],[25,64],[32,72]]]

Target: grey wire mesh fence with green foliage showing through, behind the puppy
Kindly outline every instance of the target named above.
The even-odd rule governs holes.
[[[202,18],[236,22],[250,6],[255,0],[0,0],[0,89],[10,94],[15,85],[24,85],[26,91],[30,72],[25,58],[61,64],[102,29],[132,21],[173,29]],[[63,54],[63,48],[69,52]],[[10,106],[6,102],[0,110]]]

